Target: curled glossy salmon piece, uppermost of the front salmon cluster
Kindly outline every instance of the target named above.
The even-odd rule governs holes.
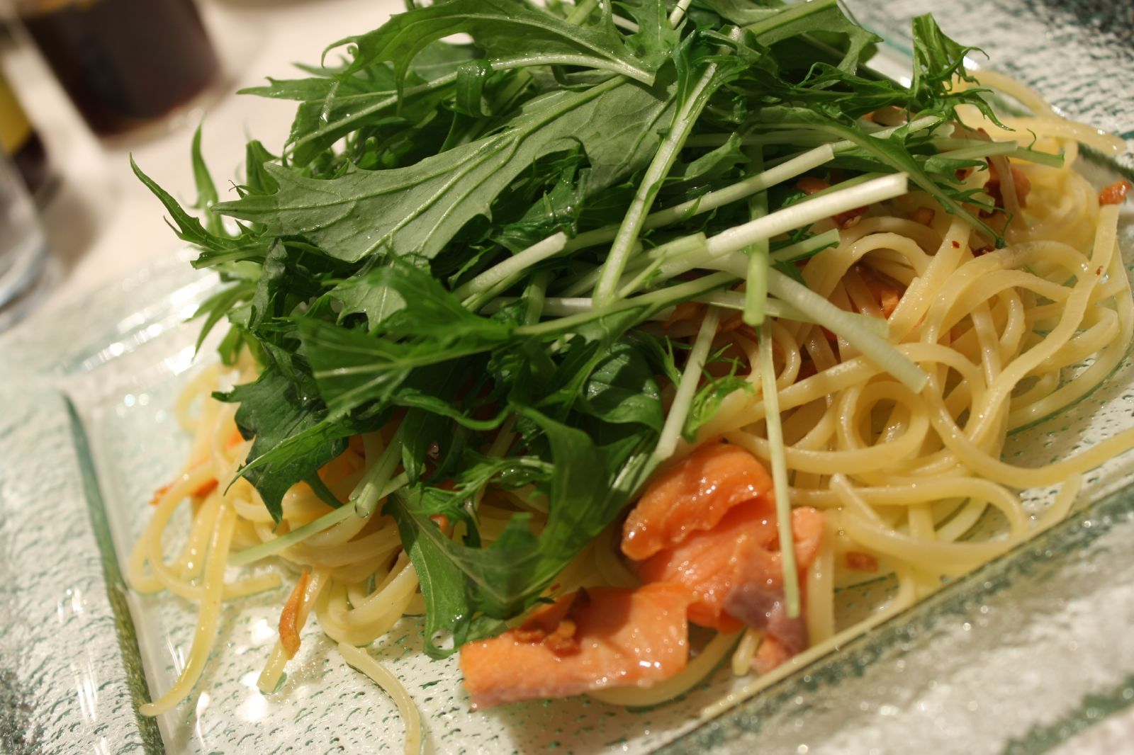
[[[623,553],[642,561],[691,534],[712,529],[729,509],[772,499],[772,478],[737,446],[704,443],[660,475],[623,526]]]

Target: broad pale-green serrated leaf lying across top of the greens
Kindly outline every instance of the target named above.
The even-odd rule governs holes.
[[[303,236],[347,262],[384,253],[433,257],[465,223],[489,215],[492,200],[542,155],[581,143],[592,190],[637,169],[669,107],[667,94],[618,80],[557,92],[525,105],[502,130],[413,167],[319,180],[269,166],[278,193],[217,211],[261,223],[271,236]]]

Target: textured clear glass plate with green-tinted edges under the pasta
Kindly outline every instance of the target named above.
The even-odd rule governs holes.
[[[894,36],[930,5],[853,9]],[[1117,95],[1134,80],[1134,11],[1119,5],[963,0],[933,10],[1069,116],[1132,138],[1134,103]],[[1027,35],[1005,39],[1007,28]],[[1127,154],[1085,170],[1101,185],[1132,164]],[[1129,210],[1122,237],[1129,260]],[[155,721],[136,712],[171,684],[194,622],[176,597],[132,594],[119,568],[144,501],[188,444],[170,413],[195,370],[197,325],[184,320],[215,280],[186,256],[0,340],[0,750],[399,752],[392,703],[314,625],[281,690],[255,689],[282,589],[226,610],[189,701]],[[1131,424],[1127,363],[1073,410],[1015,435],[1009,452],[1046,463]],[[435,752],[1043,752],[1134,702],[1129,457],[1091,475],[1091,504],[1067,521],[748,699],[721,670],[645,711],[578,698],[471,713],[455,662],[423,659],[413,619],[370,652],[407,680]]]

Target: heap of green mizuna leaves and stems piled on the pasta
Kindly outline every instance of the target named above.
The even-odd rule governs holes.
[[[837,243],[813,222],[907,183],[1000,243],[979,213],[990,198],[956,177],[1000,145],[955,125],[958,104],[988,113],[979,90],[951,88],[968,49],[916,19],[902,86],[862,68],[877,41],[833,0],[411,1],[304,78],[247,91],[298,108],[280,155],[247,145],[235,198],[218,202],[198,133],[204,222],[135,166],[195,266],[227,283],[202,339],[227,321],[221,358],[259,364],[217,398],[239,404],[254,439],[240,474],[277,521],[301,481],[339,507],[316,470],[397,424],[347,510],[235,561],[389,494],[443,655],[540,600],[725,396],[751,390],[710,347],[729,309],[820,323],[919,389],[885,323],[811,292],[793,261]],[[863,118],[885,109],[907,118]],[[809,171],[841,180],[804,196]],[[689,300],[713,305],[692,342],[643,328]],[[489,486],[541,494],[547,525],[517,514],[483,545]]]

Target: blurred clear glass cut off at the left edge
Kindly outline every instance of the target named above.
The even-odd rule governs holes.
[[[0,330],[26,309],[27,295],[43,273],[45,247],[27,187],[0,155]]]

